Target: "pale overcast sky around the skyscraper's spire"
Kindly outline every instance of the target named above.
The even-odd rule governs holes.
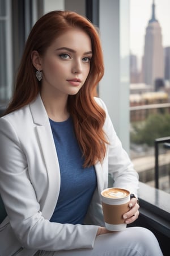
[[[145,33],[151,19],[152,0],[130,0],[130,49],[143,55]],[[162,28],[163,46],[170,46],[170,0],[155,0],[155,14]]]

